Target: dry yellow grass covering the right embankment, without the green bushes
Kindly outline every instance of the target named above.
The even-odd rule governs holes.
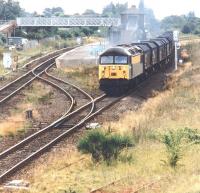
[[[88,193],[113,181],[117,181],[116,184],[104,188],[103,192],[133,192],[152,181],[157,183],[140,192],[200,192],[200,146],[186,148],[178,167],[172,169],[161,161],[167,158],[166,149],[154,138],[157,132],[165,133],[169,129],[199,129],[200,87],[197,77],[191,78],[199,73],[198,70],[191,72],[197,67],[198,63],[194,63],[178,71],[172,76],[169,90],[149,99],[136,112],[126,112],[118,122],[105,124],[105,128],[137,139],[135,148],[123,152],[133,155],[132,162],[118,160],[111,166],[94,164],[90,157],[77,153],[75,147],[70,151],[63,149],[61,153],[52,154],[46,165],[41,162],[34,168],[34,175],[29,178],[30,192],[68,193],[71,188],[75,193]]]

